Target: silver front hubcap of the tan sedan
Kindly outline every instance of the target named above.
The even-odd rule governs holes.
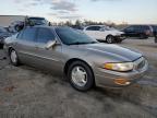
[[[84,86],[87,83],[87,73],[82,67],[74,67],[71,78],[72,82],[78,86]]]

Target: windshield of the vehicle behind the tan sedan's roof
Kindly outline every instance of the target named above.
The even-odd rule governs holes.
[[[35,25],[48,25],[48,22],[40,17],[29,17],[29,21],[35,23]]]

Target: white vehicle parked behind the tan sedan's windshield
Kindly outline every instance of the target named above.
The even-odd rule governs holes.
[[[123,39],[125,39],[123,32],[106,25],[86,26],[84,27],[83,32],[93,38],[107,42],[108,44],[121,43]]]

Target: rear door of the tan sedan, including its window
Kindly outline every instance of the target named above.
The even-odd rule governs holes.
[[[32,66],[36,64],[34,51],[36,49],[36,27],[27,27],[17,35],[15,42],[15,49],[20,61]]]

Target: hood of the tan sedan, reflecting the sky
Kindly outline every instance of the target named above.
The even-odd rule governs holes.
[[[118,45],[108,45],[108,44],[90,44],[90,45],[85,45],[85,46],[80,46],[81,48],[85,48],[86,50],[89,51],[89,55],[92,51],[99,54],[101,56],[109,56],[113,59],[117,59],[118,61],[134,61],[142,57],[142,54],[132,50],[129,48],[124,48]]]

